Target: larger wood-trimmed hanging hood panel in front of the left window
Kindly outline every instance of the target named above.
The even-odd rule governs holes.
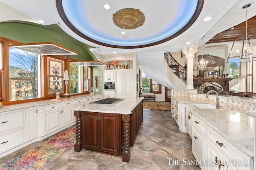
[[[20,45],[10,45],[10,47],[36,53],[39,55],[77,55],[78,53],[62,47],[58,44],[48,43],[29,43]]]

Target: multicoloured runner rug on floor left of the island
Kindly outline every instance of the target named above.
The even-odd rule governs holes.
[[[42,145],[0,165],[0,170],[41,170],[76,143],[76,128],[72,128]]]

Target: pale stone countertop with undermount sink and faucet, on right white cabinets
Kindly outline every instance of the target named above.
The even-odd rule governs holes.
[[[216,102],[198,98],[175,98],[193,108],[192,112],[209,127],[218,132],[237,149],[253,158],[254,156],[254,119],[245,112],[249,109],[220,102],[221,109],[200,109],[193,103],[216,106]]]

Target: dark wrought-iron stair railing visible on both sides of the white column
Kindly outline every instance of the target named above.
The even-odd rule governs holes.
[[[176,76],[180,78],[185,84],[187,84],[187,70],[184,66],[181,66],[170,53],[164,53],[164,58]],[[193,76],[193,86],[197,89],[199,93],[207,93],[210,90],[216,90],[218,93],[222,90],[222,87],[213,84],[202,78]]]

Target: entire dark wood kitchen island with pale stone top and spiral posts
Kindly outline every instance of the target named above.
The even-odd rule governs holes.
[[[122,156],[130,161],[133,146],[143,121],[143,98],[126,97],[114,104],[90,103],[74,109],[76,144],[74,149]]]

